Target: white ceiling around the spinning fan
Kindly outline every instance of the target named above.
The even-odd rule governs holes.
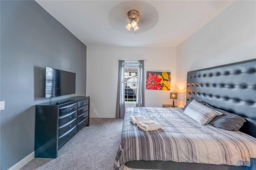
[[[176,47],[228,8],[230,0],[36,0],[86,46]],[[138,10],[140,29],[125,18]],[[210,33],[209,33],[210,34]]]

